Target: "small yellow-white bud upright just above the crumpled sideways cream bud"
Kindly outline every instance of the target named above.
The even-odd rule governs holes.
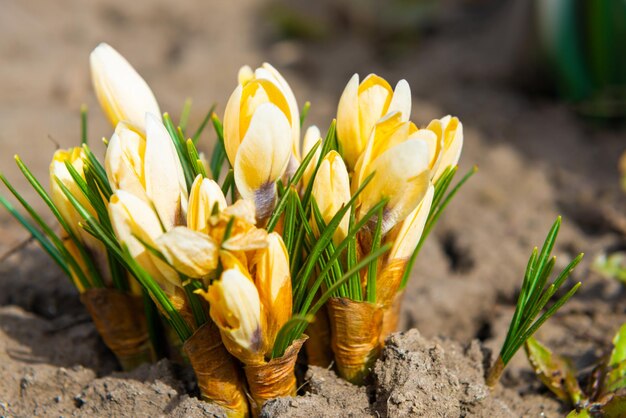
[[[213,211],[217,210],[219,213],[226,206],[226,198],[220,186],[215,181],[198,175],[191,185],[191,193],[189,193],[187,227],[208,234],[208,222]]]

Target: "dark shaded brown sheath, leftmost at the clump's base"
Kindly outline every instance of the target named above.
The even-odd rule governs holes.
[[[115,289],[87,289],[80,300],[124,370],[156,360],[141,297]]]

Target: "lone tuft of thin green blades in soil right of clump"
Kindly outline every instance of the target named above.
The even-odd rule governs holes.
[[[558,274],[556,279],[548,285],[548,278],[556,260],[556,257],[551,257],[550,254],[554,247],[560,226],[561,217],[559,216],[554,222],[554,225],[552,225],[541,248],[541,252],[538,253],[537,248],[535,248],[530,256],[522,283],[522,289],[517,300],[517,306],[515,307],[515,313],[509,325],[506,339],[500,350],[500,355],[487,375],[487,384],[490,387],[493,387],[498,382],[504,368],[520,347],[532,337],[548,318],[554,315],[565,302],[576,293],[581,285],[580,282],[576,283],[565,295],[558,298],[552,306],[547,308],[545,312],[539,316],[539,313],[546,307],[554,294],[561,288],[565,280],[583,258],[583,254],[579,254]]]

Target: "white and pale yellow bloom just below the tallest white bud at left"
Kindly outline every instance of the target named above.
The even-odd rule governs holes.
[[[187,185],[178,154],[163,123],[146,115],[146,134],[120,123],[104,166],[113,191],[124,190],[151,203],[166,230],[185,221]]]

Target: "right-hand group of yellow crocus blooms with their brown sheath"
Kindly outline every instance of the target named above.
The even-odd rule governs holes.
[[[329,301],[338,371],[356,383],[367,376],[384,339],[395,330],[402,278],[431,211],[434,182],[456,166],[462,148],[457,118],[448,116],[418,129],[410,114],[406,81],[392,90],[373,74],[361,83],[358,75],[352,77],[337,111],[338,151],[323,157],[313,179],[313,197],[328,223],[371,177],[333,241],[337,246],[345,239],[350,216],[358,222],[378,206],[377,215],[355,237],[355,256],[358,259],[383,244],[391,247],[361,272],[343,297]],[[315,220],[311,222],[317,226]]]

